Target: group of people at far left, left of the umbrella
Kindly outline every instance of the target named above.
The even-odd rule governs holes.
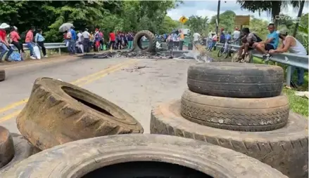
[[[37,33],[34,35],[34,32]],[[33,46],[39,46],[39,48],[42,50],[44,57],[48,57],[46,55],[44,41],[45,39],[42,34],[42,29],[37,29],[36,31],[34,27],[31,27],[27,31],[25,36],[25,43],[27,44],[27,48],[29,48],[30,50],[31,59],[37,59],[37,56],[34,54]],[[13,53],[13,48],[10,46],[10,44],[13,44],[13,46],[18,49],[18,53]],[[0,25],[0,47],[0,62],[3,62],[2,58],[4,57],[4,55],[4,60],[8,62],[11,62],[11,60],[9,60],[9,57],[14,58],[13,60],[18,60],[17,58],[20,58],[20,60],[24,60],[23,53],[25,53],[25,51],[23,50],[23,41],[20,38],[17,27],[11,27],[6,23],[2,23]]]

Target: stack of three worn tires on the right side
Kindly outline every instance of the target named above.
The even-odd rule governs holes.
[[[220,145],[288,177],[308,177],[308,120],[289,111],[283,81],[277,66],[194,64],[181,100],[152,110],[151,133]]]

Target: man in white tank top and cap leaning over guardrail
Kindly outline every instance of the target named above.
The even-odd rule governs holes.
[[[305,50],[305,47],[301,42],[299,42],[297,39],[295,39],[293,36],[288,35],[287,29],[281,29],[277,31],[277,34],[279,34],[279,38],[282,39],[282,46],[277,48],[276,50],[270,50],[270,55],[273,55],[275,53],[286,53],[289,51],[289,53],[293,53],[296,55],[307,55],[307,50]],[[297,85],[303,85],[303,77],[304,77],[304,69],[300,67],[293,67],[291,70],[291,75],[293,76],[294,71],[297,71]]]

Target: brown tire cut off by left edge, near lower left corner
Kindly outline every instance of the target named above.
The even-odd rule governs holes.
[[[15,154],[12,135],[0,126],[0,169],[12,160]]]

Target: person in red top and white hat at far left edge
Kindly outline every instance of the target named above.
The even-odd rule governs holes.
[[[6,39],[6,29],[9,27],[10,25],[7,25],[6,23],[2,23],[0,25],[0,48],[1,48],[0,62],[3,62],[2,58],[4,57],[6,52],[8,53],[6,54],[6,57],[4,58],[4,60],[9,62],[8,57],[10,57],[11,53],[13,53],[13,49],[11,48],[10,44],[8,43]]]

